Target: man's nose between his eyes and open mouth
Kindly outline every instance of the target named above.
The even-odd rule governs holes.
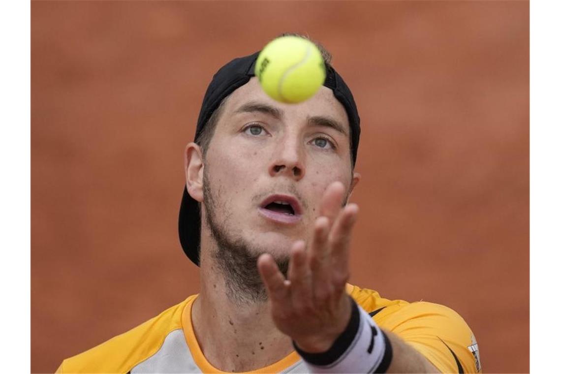
[[[280,141],[275,154],[273,162],[269,166],[269,175],[286,176],[295,181],[300,181],[304,177],[304,150],[298,146],[296,140]]]

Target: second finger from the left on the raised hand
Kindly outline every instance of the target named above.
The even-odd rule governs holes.
[[[299,313],[306,312],[306,308],[312,306],[313,294],[311,271],[304,241],[297,241],[292,246],[288,280],[290,281],[292,306]]]

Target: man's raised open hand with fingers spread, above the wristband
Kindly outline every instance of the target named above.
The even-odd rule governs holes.
[[[304,241],[292,245],[288,279],[268,253],[257,260],[275,325],[309,353],[327,351],[351,318],[345,286],[358,206],[342,208],[343,195],[341,182],[325,190],[309,246]]]

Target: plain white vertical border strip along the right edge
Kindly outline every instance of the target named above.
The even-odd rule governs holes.
[[[559,357],[560,22],[559,2],[530,1],[530,369],[537,373],[554,371]]]

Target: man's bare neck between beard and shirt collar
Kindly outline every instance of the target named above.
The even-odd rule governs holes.
[[[228,297],[226,275],[209,251],[201,257],[201,289],[192,308],[195,335],[206,360],[222,371],[250,371],[292,352],[280,333],[267,301]]]

